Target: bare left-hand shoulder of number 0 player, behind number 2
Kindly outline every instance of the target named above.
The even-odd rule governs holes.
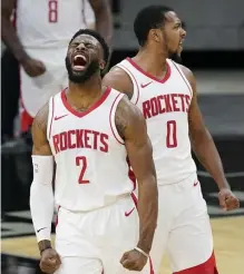
[[[103,78],[103,85],[126,94],[129,99],[133,97],[134,87],[131,79],[121,68],[111,68],[110,71]]]

